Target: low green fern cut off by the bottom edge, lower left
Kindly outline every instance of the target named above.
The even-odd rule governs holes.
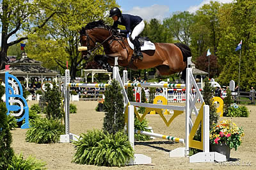
[[[8,169],[46,169],[46,163],[41,160],[37,160],[35,157],[29,155],[27,159],[20,155],[14,155],[12,157],[12,162],[8,164]]]

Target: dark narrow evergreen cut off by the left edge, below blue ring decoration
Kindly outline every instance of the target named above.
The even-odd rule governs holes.
[[[6,112],[5,103],[0,101],[0,169],[7,169],[14,154],[11,148],[12,134],[8,125]]]

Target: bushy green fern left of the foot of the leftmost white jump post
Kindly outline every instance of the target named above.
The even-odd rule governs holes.
[[[60,135],[65,133],[64,125],[58,120],[36,119],[30,122],[30,126],[26,132],[29,143],[58,143]]]

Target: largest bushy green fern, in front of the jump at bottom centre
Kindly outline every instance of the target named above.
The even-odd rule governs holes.
[[[134,152],[126,134],[104,134],[102,130],[82,134],[76,145],[72,162],[96,166],[125,166]]]

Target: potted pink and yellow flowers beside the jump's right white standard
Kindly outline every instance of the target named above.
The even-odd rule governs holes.
[[[230,120],[223,120],[210,130],[210,143],[212,151],[217,151],[230,158],[230,150],[241,144],[241,137],[244,135],[242,128],[237,127],[236,123]]]

